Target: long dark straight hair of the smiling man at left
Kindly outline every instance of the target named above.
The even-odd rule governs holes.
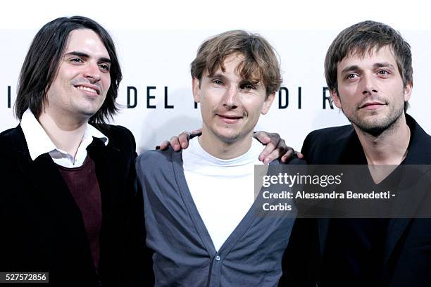
[[[39,117],[42,113],[42,107],[46,101],[46,91],[54,81],[69,34],[77,29],[90,29],[98,34],[111,58],[111,86],[101,108],[89,121],[103,123],[118,111],[115,98],[118,96],[118,85],[123,76],[113,40],[104,27],[94,20],[73,16],[57,18],[45,24],[33,39],[18,81],[18,93],[14,107],[18,119],[23,117],[27,108],[30,108],[35,117]]]

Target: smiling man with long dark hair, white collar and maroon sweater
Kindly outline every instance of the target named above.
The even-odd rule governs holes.
[[[123,286],[135,139],[105,124],[121,78],[94,20],[58,18],[37,32],[20,72],[20,125],[0,134],[0,272]]]

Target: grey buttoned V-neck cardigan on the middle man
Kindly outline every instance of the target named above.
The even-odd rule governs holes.
[[[156,286],[277,286],[294,219],[256,215],[256,199],[216,252],[189,192],[182,153],[147,151],[136,169]]]

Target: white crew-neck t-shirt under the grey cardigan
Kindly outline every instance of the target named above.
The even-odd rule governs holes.
[[[262,144],[253,139],[249,151],[238,158],[222,160],[210,155],[198,138],[189,141],[182,151],[182,161],[189,191],[201,219],[219,250],[254,203],[254,165],[261,165],[258,155]]]

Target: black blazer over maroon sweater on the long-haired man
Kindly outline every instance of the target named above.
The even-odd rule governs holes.
[[[134,204],[135,139],[124,127],[96,125],[94,139],[102,203],[99,270],[80,209],[49,154],[32,161],[20,125],[0,134],[0,272],[49,272],[41,286],[123,286],[130,210]]]

